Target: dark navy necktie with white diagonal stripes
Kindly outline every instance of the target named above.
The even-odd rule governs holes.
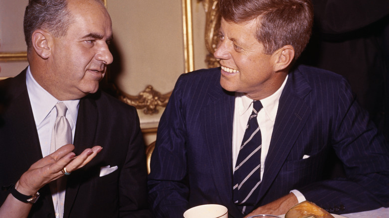
[[[262,137],[257,121],[260,109],[261,102],[254,101],[234,169],[233,200],[242,214],[255,206],[261,184]]]

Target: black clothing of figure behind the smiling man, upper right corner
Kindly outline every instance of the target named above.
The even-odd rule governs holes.
[[[313,34],[299,62],[350,82],[389,139],[389,1],[312,0]]]

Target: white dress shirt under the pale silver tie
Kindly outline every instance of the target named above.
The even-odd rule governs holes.
[[[31,75],[29,66],[27,68],[27,73],[26,73],[26,85],[27,85],[28,97],[31,103],[32,113],[34,115],[36,129],[38,131],[42,156],[45,157],[50,154],[51,134],[57,116],[57,110],[55,109],[55,105],[60,101],[54,98],[50,93],[44,90],[35,81],[35,79]],[[69,121],[70,127],[72,129],[72,142],[73,142],[80,100],[71,100],[71,101],[62,101],[62,102],[67,107],[65,116]],[[52,199],[53,199],[54,206],[56,206],[57,195],[53,194]],[[55,217],[62,218],[63,215],[59,215],[56,207],[54,207],[54,210],[55,210]]]

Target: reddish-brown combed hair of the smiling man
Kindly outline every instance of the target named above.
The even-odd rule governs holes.
[[[219,0],[227,22],[257,20],[256,38],[266,54],[292,45],[297,59],[311,37],[313,6],[310,0]]]

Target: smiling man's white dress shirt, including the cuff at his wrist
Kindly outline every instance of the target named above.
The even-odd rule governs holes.
[[[287,80],[288,76],[286,76],[281,87],[273,93],[273,95],[260,100],[263,108],[258,112],[257,121],[262,136],[261,179],[263,178],[265,160],[267,152],[269,151],[271,135],[277,116],[278,103]],[[253,100],[248,98],[244,93],[235,93],[235,109],[232,127],[232,169],[235,168],[247,121],[252,112],[252,102]],[[299,203],[305,201],[305,197],[299,191],[292,190],[291,192],[296,195]]]

